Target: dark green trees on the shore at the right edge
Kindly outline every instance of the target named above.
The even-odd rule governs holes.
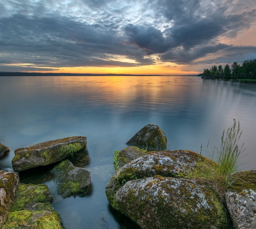
[[[210,69],[204,68],[203,76],[222,79],[256,79],[256,59],[245,60],[242,66],[234,62],[231,67],[226,64],[224,68],[222,65],[218,67],[214,65]]]

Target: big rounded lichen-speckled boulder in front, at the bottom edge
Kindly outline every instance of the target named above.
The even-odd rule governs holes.
[[[119,211],[144,229],[228,228],[227,213],[206,182],[148,177],[125,183],[116,193]]]

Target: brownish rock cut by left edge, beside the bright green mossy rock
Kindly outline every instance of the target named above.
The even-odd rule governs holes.
[[[13,172],[0,171],[0,227],[11,209],[20,178]]]

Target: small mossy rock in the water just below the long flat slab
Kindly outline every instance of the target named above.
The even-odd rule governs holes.
[[[52,169],[58,194],[63,198],[85,195],[90,187],[91,172],[75,167],[69,160],[62,161]]]

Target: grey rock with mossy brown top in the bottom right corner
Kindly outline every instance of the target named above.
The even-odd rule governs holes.
[[[226,203],[236,229],[256,228],[256,170],[234,174]]]

